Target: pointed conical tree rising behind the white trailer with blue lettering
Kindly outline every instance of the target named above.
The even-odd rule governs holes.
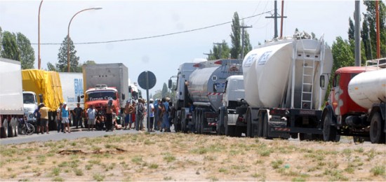
[[[58,64],[56,64],[56,69],[58,71],[67,72],[67,36],[65,40],[60,45],[58,53]],[[76,57],[75,45],[69,38],[69,71],[70,72],[81,72],[79,69],[79,57]]]

